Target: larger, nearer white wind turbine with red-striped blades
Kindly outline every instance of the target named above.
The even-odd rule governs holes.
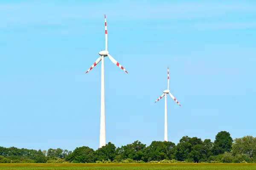
[[[119,64],[108,52],[108,31],[107,31],[107,21],[105,15],[105,50],[98,53],[100,57],[93,63],[93,65],[86,72],[88,73],[95,65],[102,61],[102,71],[101,71],[101,102],[100,102],[100,132],[99,132],[99,147],[106,145],[106,126],[105,126],[105,88],[104,88],[104,57],[107,57],[123,71],[128,73],[122,65]]]

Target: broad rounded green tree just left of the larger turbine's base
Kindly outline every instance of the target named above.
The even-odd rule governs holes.
[[[73,163],[93,163],[94,150],[87,146],[76,147],[73,153],[66,157],[66,160]]]

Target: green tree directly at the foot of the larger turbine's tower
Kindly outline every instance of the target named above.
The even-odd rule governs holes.
[[[95,159],[97,161],[108,160],[113,161],[116,158],[116,147],[111,142],[108,142],[105,146],[102,146],[95,151]]]

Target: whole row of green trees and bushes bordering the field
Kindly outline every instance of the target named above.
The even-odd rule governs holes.
[[[215,141],[183,136],[176,145],[173,142],[153,141],[149,146],[135,141],[122,147],[111,142],[93,150],[76,147],[68,151],[61,148],[49,150],[0,147],[0,163],[154,163],[154,162],[209,162],[256,163],[256,138],[244,136],[232,139],[230,133],[221,131]]]

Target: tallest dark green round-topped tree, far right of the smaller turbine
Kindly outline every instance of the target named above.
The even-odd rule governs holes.
[[[230,152],[232,148],[233,139],[230,133],[227,131],[221,131],[215,136],[215,141],[213,143],[213,153],[215,155],[223,154],[225,152]]]

